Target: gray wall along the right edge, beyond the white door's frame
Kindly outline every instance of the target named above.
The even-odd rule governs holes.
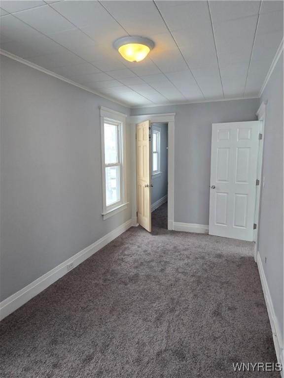
[[[258,250],[283,335],[283,53],[259,105],[266,100]]]

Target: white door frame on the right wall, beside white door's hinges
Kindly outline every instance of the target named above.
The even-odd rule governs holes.
[[[262,134],[262,139],[259,140],[258,146],[258,157],[257,157],[257,178],[259,180],[259,186],[256,186],[256,200],[255,200],[255,213],[254,213],[254,223],[256,224],[255,234],[254,234],[254,261],[256,262],[256,256],[258,251],[259,244],[259,221],[260,221],[260,212],[261,212],[261,195],[263,189],[262,183],[262,165],[263,165],[263,144],[264,144],[264,126],[265,126],[265,113],[266,113],[267,101],[262,102],[259,106],[256,116],[259,125],[259,133]]]

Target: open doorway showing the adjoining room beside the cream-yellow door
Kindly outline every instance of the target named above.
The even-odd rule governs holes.
[[[168,229],[168,124],[151,124],[151,223]]]

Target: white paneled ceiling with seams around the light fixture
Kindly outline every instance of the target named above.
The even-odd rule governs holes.
[[[283,39],[283,1],[0,1],[0,47],[129,106],[252,97]],[[116,38],[156,46],[123,60]]]

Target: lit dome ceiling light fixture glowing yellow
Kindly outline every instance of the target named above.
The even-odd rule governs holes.
[[[122,37],[114,41],[113,46],[128,62],[140,62],[155,46],[154,42],[144,37]]]

